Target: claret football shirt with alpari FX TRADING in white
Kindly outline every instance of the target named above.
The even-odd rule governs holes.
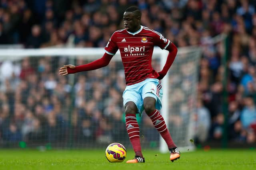
[[[162,34],[141,26],[134,33],[121,29],[112,34],[105,52],[115,55],[118,49],[124,65],[127,85],[136,84],[146,78],[157,78],[159,74],[152,68],[151,60],[154,46],[166,49],[171,43]]]

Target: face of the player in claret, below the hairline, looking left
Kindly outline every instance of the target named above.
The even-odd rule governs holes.
[[[134,16],[132,12],[124,12],[124,27],[127,31],[135,32],[138,30],[140,22],[138,17]]]

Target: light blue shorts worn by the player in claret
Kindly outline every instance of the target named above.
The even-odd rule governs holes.
[[[152,97],[156,100],[156,109],[162,108],[162,84],[156,78],[147,78],[146,80],[126,86],[123,92],[123,104],[127,102],[134,102],[137,106],[138,113],[144,110],[143,100],[146,97]]]

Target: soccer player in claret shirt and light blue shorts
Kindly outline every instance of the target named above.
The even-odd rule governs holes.
[[[137,7],[127,8],[124,12],[125,29],[112,34],[102,58],[80,66],[64,65],[60,68],[59,74],[64,76],[107,66],[119,49],[127,85],[123,92],[126,130],[135,152],[134,159],[128,160],[126,163],[145,162],[140,146],[140,130],[136,120],[136,114],[142,113],[143,110],[166,141],[170,150],[170,160],[173,162],[180,158],[180,151],[172,141],[164,118],[159,112],[162,107],[160,80],[166,75],[178,50],[162,34],[140,25],[140,20],[141,12]],[[154,45],[169,51],[166,64],[160,72],[156,72],[151,66]]]

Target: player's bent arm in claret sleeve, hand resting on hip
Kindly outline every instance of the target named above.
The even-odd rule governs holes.
[[[158,74],[159,74],[158,79],[159,80],[162,80],[164,78],[164,76],[167,74],[169,68],[171,67],[171,65],[172,65],[172,63],[173,63],[173,61],[174,61],[174,59],[175,59],[175,57],[178,53],[178,49],[173,43],[168,45],[168,47],[166,47],[166,50],[169,51],[169,54],[167,56],[167,60],[166,60],[166,63],[164,65],[164,68],[160,72],[158,72]]]

